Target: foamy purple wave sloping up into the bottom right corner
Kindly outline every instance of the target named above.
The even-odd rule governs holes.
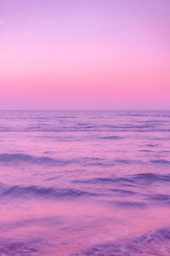
[[[72,256],[127,256],[127,255],[169,255],[170,250],[170,228],[149,231],[141,236],[123,239],[115,242],[105,242],[89,247]]]

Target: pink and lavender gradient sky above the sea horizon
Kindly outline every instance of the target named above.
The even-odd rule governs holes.
[[[0,0],[0,109],[170,109],[169,0]]]

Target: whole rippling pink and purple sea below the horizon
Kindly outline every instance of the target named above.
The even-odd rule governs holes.
[[[170,112],[0,112],[0,255],[170,255]]]

